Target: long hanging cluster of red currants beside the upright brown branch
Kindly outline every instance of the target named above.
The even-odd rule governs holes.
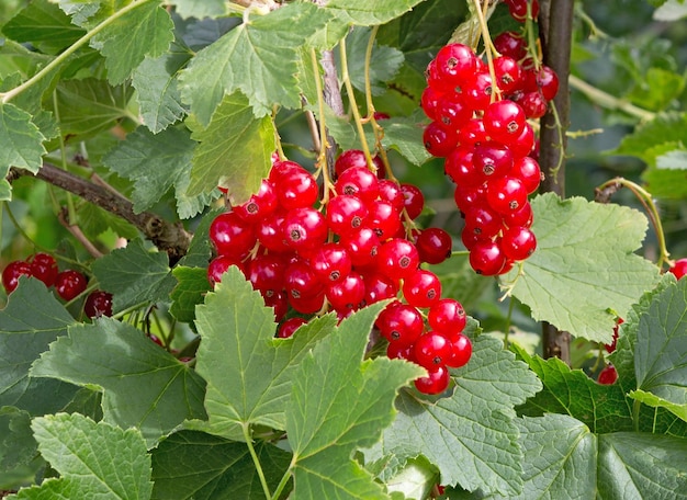
[[[483,275],[508,272],[537,248],[528,195],[539,188],[541,170],[527,120],[543,115],[559,87],[545,66],[526,69],[521,38],[502,36],[495,43],[518,45],[493,60],[496,84],[470,47],[449,44],[429,64],[421,98],[432,120],[425,146],[446,158],[444,171],[457,184],[454,200],[465,219],[462,241],[472,268]],[[543,107],[529,105],[539,98]]]

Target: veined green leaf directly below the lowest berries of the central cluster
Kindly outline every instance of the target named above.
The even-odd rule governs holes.
[[[541,383],[488,336],[473,340],[470,362],[452,376],[449,397],[426,400],[402,393],[396,420],[365,452],[365,461],[392,455],[403,464],[421,454],[439,468],[443,485],[519,493],[522,453],[514,406],[540,390]]]

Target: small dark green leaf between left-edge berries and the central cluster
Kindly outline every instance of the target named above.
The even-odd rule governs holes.
[[[169,300],[176,285],[167,253],[147,251],[140,240],[129,241],[93,263],[100,287],[113,295],[113,310]]]

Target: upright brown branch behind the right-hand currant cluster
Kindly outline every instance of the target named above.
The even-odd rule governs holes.
[[[559,76],[559,93],[553,99],[553,107],[541,120],[539,163],[545,179],[541,192],[554,192],[565,196],[565,148],[566,129],[570,126],[570,61],[573,39],[574,0],[541,2],[540,39],[543,63]],[[542,325],[544,357],[560,357],[571,363],[571,334],[560,331],[553,325]]]

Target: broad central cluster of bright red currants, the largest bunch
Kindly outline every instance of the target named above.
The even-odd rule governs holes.
[[[395,298],[401,292],[407,304],[394,302],[381,318],[401,315],[393,319],[401,325],[407,321],[406,316],[392,311],[412,310],[414,325],[395,327],[381,318],[378,325],[391,342],[391,356],[421,359],[424,354],[413,356],[408,351],[425,337],[420,337],[424,322],[418,308],[440,303],[441,283],[420,263],[446,260],[452,240],[443,229],[414,228],[412,221],[425,204],[423,193],[415,185],[384,179],[376,161],[375,167],[378,173],[368,167],[362,151],[345,151],[335,163],[331,196],[320,202],[313,174],[299,163],[277,159],[257,194],[211,224],[210,239],[216,257],[207,269],[210,282],[217,283],[230,265],[237,265],[266,304],[273,307],[281,322],[277,332],[281,338],[290,337],[306,322],[289,314],[290,309],[300,315],[334,310],[344,318],[365,305]],[[458,309],[462,322],[447,319],[447,311],[432,314],[439,318],[439,328],[432,328],[447,338],[442,354],[429,363],[432,368],[441,365],[440,378],[446,382],[441,390],[448,385],[444,365],[449,330],[459,334],[464,326],[462,307],[458,305]],[[461,345],[469,342],[466,338],[460,341]],[[470,357],[466,348],[460,349],[450,366]],[[417,354],[420,351],[425,353],[427,348],[418,348]],[[417,385],[420,390],[440,391],[436,383],[418,380]]]

